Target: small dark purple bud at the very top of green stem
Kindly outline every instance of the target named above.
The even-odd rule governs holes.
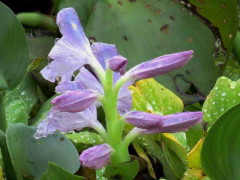
[[[108,66],[112,71],[120,72],[121,75],[125,74],[128,60],[123,56],[113,56],[108,60]]]

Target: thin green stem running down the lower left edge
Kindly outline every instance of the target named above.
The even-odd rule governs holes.
[[[2,152],[2,160],[3,160],[3,169],[8,180],[17,179],[16,173],[8,152],[6,136],[4,132],[6,131],[6,117],[5,117],[5,106],[3,102],[4,92],[0,92],[0,147]],[[3,132],[4,131],[4,132]]]

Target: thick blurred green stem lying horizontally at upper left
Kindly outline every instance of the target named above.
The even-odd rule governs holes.
[[[57,25],[55,22],[55,17],[47,16],[41,13],[35,12],[24,12],[17,15],[18,20],[26,26],[33,28],[42,28],[50,30],[54,33],[57,32]]]

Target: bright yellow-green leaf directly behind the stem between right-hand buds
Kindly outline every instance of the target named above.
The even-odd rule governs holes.
[[[129,87],[133,106],[138,111],[167,115],[183,111],[183,102],[173,92],[154,79],[144,79]]]

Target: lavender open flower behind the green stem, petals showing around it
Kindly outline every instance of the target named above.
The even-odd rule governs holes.
[[[119,56],[115,45],[105,43],[93,43],[92,52],[97,58],[103,69],[107,68],[108,61],[116,56]],[[119,72],[113,73],[113,83],[115,83],[120,77]],[[118,112],[123,115],[128,112],[132,107],[132,95],[128,90],[133,82],[129,81],[123,85],[118,94]],[[102,84],[91,72],[85,67],[82,67],[76,76],[74,81],[61,82],[57,87],[58,93],[64,93],[66,91],[76,91],[78,89],[91,89],[99,94],[104,94]]]

